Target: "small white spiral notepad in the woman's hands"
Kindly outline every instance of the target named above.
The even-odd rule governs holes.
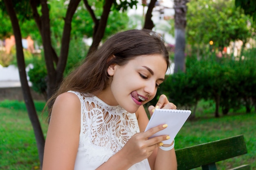
[[[150,118],[145,132],[160,124],[167,124],[167,128],[155,133],[151,137],[160,135],[169,135],[170,139],[162,141],[164,144],[171,144],[177,133],[180,131],[186,120],[189,118],[191,110],[174,110],[174,109],[155,109]],[[151,138],[150,137],[150,138]]]

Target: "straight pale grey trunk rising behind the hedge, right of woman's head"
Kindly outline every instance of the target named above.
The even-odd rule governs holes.
[[[188,0],[174,0],[175,10],[175,54],[174,73],[185,72],[185,28],[186,28],[186,3]]]

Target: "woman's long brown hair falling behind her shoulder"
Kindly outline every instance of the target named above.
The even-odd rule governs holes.
[[[154,31],[129,30],[110,37],[94,53],[87,56],[83,64],[63,79],[56,93],[48,100],[53,103],[58,95],[67,91],[78,91],[97,95],[108,84],[107,69],[111,64],[125,65],[139,55],[161,54],[167,67],[170,66],[168,50],[164,40]],[[113,57],[115,56],[115,57]],[[49,108],[49,116],[52,107]]]

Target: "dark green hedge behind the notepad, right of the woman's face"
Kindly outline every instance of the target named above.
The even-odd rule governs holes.
[[[186,73],[166,76],[153,102],[157,102],[160,94],[166,94],[178,108],[194,108],[192,117],[200,100],[215,102],[215,117],[219,117],[219,110],[226,115],[242,106],[249,113],[253,106],[256,108],[256,59],[249,54],[240,61],[187,57]]]

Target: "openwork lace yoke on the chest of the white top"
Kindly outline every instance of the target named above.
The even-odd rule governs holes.
[[[86,99],[86,100],[85,100]],[[139,132],[136,115],[119,106],[108,106],[97,97],[84,97],[81,134],[88,132],[95,146],[110,146],[118,152],[124,144]]]

